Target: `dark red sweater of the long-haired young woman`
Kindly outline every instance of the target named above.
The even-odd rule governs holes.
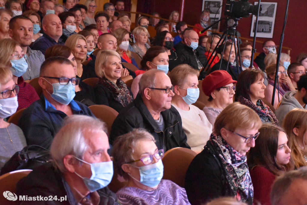
[[[251,181],[254,187],[254,203],[270,205],[271,186],[276,176],[261,166],[255,166],[250,170]]]

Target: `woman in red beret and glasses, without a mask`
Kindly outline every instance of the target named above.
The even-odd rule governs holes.
[[[233,103],[236,83],[225,70],[213,71],[204,78],[201,86],[209,99],[203,111],[212,126],[222,110]]]

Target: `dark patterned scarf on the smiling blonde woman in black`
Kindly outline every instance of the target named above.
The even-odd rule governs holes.
[[[132,102],[133,98],[130,95],[130,91],[121,78],[117,79],[116,85],[106,77],[99,78],[98,83],[110,90],[113,93],[114,99],[122,104],[123,107]]]

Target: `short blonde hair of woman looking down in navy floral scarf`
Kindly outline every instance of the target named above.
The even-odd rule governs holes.
[[[221,135],[220,130],[225,128],[227,130],[235,131],[235,129],[259,129],[262,125],[260,117],[251,108],[234,102],[228,105],[217,116],[214,123],[213,132]]]

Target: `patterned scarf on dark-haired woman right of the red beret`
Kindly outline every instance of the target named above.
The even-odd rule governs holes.
[[[278,124],[274,112],[272,112],[269,106],[264,104],[262,100],[259,99],[257,103],[254,104],[252,101],[240,96],[238,102],[252,108],[259,115],[262,122]]]

